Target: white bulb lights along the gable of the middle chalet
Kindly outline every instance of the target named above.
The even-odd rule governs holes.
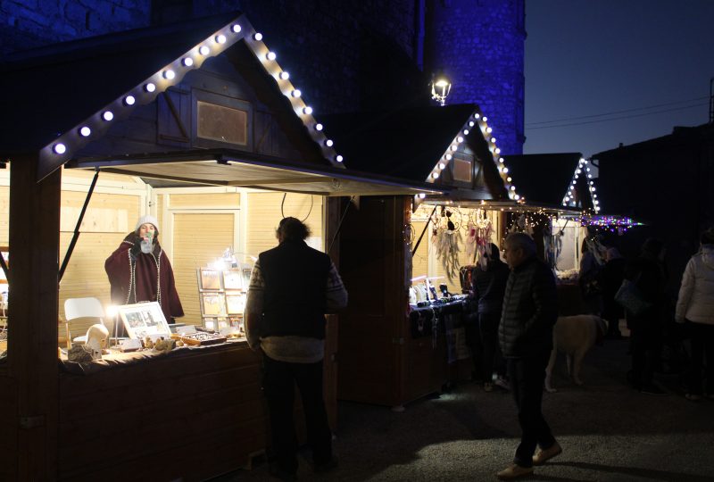
[[[505,163],[503,162],[503,158],[501,156],[501,148],[496,145],[494,129],[488,125],[488,118],[478,111],[475,111],[471,115],[469,115],[469,120],[467,120],[464,125],[461,126],[459,133],[456,135],[456,137],[452,139],[452,142],[450,143],[449,147],[446,149],[444,154],[442,154],[442,156],[439,158],[439,161],[436,162],[434,168],[429,173],[427,182],[433,183],[436,181],[436,179],[439,179],[442,172],[449,165],[449,162],[452,161],[453,154],[459,150],[465,138],[473,132],[474,128],[477,125],[478,129],[480,129],[481,131],[481,135],[488,142],[488,150],[491,153],[492,160],[498,169],[499,176],[501,176],[501,179],[503,179],[503,184],[506,188],[506,191],[508,192],[509,198],[518,203],[524,203],[526,201],[526,198],[516,192],[516,187],[513,185],[513,179],[511,179],[511,176],[509,175],[508,167],[506,167]],[[424,199],[424,197],[426,197],[426,194],[420,193],[419,195],[417,195],[417,197],[419,199]]]

